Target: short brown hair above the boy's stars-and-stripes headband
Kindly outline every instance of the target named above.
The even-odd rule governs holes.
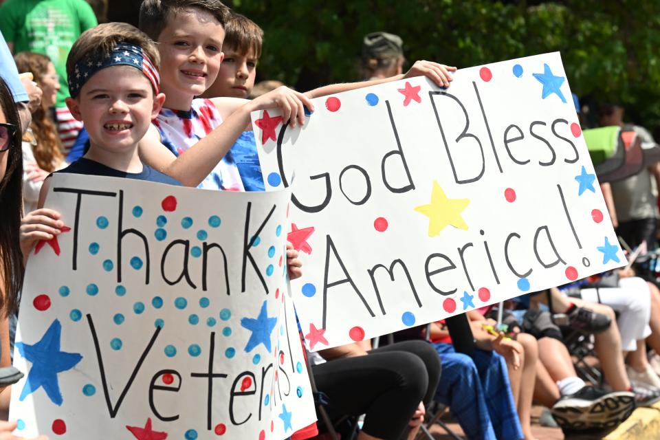
[[[151,58],[154,67],[159,67],[158,49],[144,32],[129,23],[104,23],[86,30],[76,40],[67,58],[67,76],[72,78],[76,64],[83,59],[107,56],[119,43],[131,43],[142,47]]]

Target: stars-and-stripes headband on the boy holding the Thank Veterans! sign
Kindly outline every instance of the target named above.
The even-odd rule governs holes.
[[[69,76],[69,93],[74,98],[80,94],[80,89],[96,72],[106,67],[126,65],[140,70],[151,81],[153,91],[158,93],[160,76],[142,47],[131,43],[119,43],[107,56],[95,58],[89,56],[76,63],[74,73]]]

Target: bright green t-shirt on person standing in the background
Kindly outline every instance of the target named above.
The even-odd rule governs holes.
[[[67,56],[78,36],[98,22],[85,0],[6,0],[0,5],[0,31],[14,44],[14,54],[36,52],[50,57],[62,85],[57,107],[69,96]]]

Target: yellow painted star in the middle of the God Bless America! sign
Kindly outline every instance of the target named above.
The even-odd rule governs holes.
[[[415,208],[428,217],[428,236],[437,236],[448,225],[467,230],[461,212],[470,204],[470,199],[448,199],[437,181],[433,181],[431,203]]]

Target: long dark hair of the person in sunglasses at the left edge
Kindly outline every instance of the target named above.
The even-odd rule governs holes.
[[[23,287],[23,255],[19,228],[23,216],[23,151],[21,120],[12,92],[0,78],[0,107],[9,124],[16,126],[7,154],[7,169],[0,181],[0,316],[17,310]]]

